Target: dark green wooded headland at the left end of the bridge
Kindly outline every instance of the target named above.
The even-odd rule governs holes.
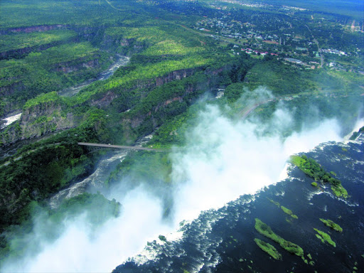
[[[32,201],[42,202],[60,188],[90,174],[98,153],[89,154],[77,141],[95,141],[97,134],[93,127],[70,130],[23,146],[2,161],[0,196],[7,201],[0,202],[0,230],[28,219],[28,205]]]

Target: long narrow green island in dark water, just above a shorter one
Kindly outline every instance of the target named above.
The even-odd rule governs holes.
[[[258,218],[255,218],[255,229],[260,234],[264,235],[265,237],[274,240],[274,242],[279,243],[281,247],[284,248],[284,250],[287,250],[288,252],[297,255],[299,257],[304,256],[304,250],[302,250],[299,245],[294,244],[293,242],[289,242],[287,240],[284,240],[282,237],[279,237],[279,235],[275,234],[272,229],[269,227],[269,225],[263,223]]]

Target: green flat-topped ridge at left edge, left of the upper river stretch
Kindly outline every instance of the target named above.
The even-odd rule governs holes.
[[[36,95],[96,77],[109,62],[107,53],[88,42],[55,45],[18,60],[0,60],[4,107],[22,108],[26,100]]]

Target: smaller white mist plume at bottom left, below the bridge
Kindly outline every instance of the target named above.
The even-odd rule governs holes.
[[[2,271],[111,272],[140,252],[148,240],[171,230],[162,220],[161,203],[144,188],[129,191],[119,201],[123,205],[122,215],[109,220],[97,232],[92,232],[81,216],[66,223],[67,228],[58,240],[45,243],[36,257],[6,264]]]

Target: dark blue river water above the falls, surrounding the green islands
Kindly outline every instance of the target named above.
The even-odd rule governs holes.
[[[292,167],[285,181],[255,196],[242,196],[219,210],[208,210],[183,225],[183,237],[173,242],[152,242],[146,249],[154,259],[141,264],[134,257],[114,272],[364,272],[364,137],[357,141],[329,142],[306,153],[334,171],[350,195],[333,196],[329,186],[314,188],[312,179]],[[285,214],[269,199],[291,209],[298,219]],[[267,223],[277,235],[311,254],[314,265],[291,255],[255,230],[255,218]],[[343,232],[326,227],[319,218],[333,220]],[[321,242],[314,228],[336,242]],[[257,247],[259,238],[282,254],[275,260]],[[186,273],[186,272],[185,272]]]

